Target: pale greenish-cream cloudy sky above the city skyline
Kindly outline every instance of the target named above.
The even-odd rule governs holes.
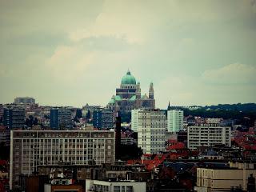
[[[256,102],[256,1],[0,1],[0,103],[106,106],[128,69],[159,108]]]

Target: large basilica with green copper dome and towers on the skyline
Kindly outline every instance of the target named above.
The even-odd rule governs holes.
[[[110,99],[107,108],[114,111],[130,111],[134,109],[154,109],[154,88],[150,83],[149,96],[141,95],[140,83],[137,82],[130,70],[122,77],[120,88],[116,89],[116,95]]]

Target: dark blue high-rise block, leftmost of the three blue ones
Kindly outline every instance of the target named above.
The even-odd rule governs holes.
[[[10,129],[22,128],[25,124],[25,110],[18,107],[4,108],[3,124]]]

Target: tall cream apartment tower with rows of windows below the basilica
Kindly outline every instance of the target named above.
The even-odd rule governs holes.
[[[160,110],[138,111],[138,146],[144,154],[165,150],[166,115]]]

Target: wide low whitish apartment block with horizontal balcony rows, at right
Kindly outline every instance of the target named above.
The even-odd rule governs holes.
[[[187,145],[190,150],[200,146],[225,145],[231,146],[231,128],[218,124],[202,124],[187,128]]]

